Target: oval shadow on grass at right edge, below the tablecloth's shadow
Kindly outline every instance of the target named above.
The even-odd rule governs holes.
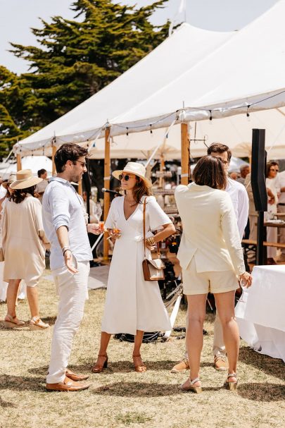
[[[284,401],[285,385],[269,383],[239,384],[239,396],[251,401]]]

